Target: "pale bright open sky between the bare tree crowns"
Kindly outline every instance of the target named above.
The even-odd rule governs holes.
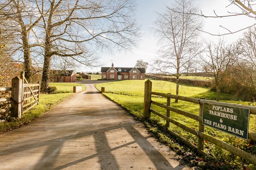
[[[138,48],[134,48],[132,52],[115,52],[113,55],[100,54],[100,61],[104,63],[103,66],[111,66],[114,63],[115,67],[134,67],[137,60],[142,59],[148,63],[152,62],[155,58],[156,52],[159,49],[157,46],[157,37],[154,36],[150,29],[155,21],[157,14],[156,12],[163,12],[166,6],[171,6],[174,0],[136,0],[137,11],[136,17],[137,22],[141,24],[142,37]],[[229,6],[229,0],[196,0],[199,8],[205,16],[214,16],[214,11],[217,15],[227,15],[228,12],[241,12],[235,5]],[[223,34],[228,31],[221,28],[223,26],[234,32],[244,27],[250,26],[255,22],[253,18],[246,16],[243,17],[226,17],[226,18],[204,18],[204,28],[206,32],[212,34]],[[232,35],[225,35],[223,38],[226,42],[232,43],[242,36],[242,32],[238,32]],[[219,36],[211,36],[202,32],[202,37],[207,41],[216,42]],[[80,66],[77,71],[80,72],[97,72],[100,71],[101,67],[86,67]],[[147,70],[150,72],[150,70]]]

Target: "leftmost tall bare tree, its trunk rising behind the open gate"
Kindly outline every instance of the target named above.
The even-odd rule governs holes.
[[[33,75],[31,50],[30,48],[37,46],[30,42],[30,32],[42,18],[36,15],[36,7],[30,0],[1,0],[0,7],[0,26],[7,32],[12,32],[15,40],[12,44],[16,46],[11,49],[12,55],[15,52],[23,54],[24,71],[26,78],[29,80]],[[17,59],[20,61],[20,58]]]

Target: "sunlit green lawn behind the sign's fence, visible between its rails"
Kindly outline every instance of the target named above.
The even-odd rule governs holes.
[[[144,95],[145,81],[146,80],[117,81],[117,82],[96,84],[95,86],[99,90],[101,89],[102,86],[105,87],[104,95],[106,95],[111,100],[115,101],[121,107],[127,109],[128,112],[131,112],[137,118],[143,118],[143,95]],[[175,90],[176,90],[175,83],[152,80],[153,92],[163,92],[163,93],[170,92],[171,94],[175,94]],[[216,98],[215,97],[216,92],[211,91],[209,88],[186,86],[186,85],[180,85],[179,95],[193,97],[193,98],[205,97],[208,100],[214,100]],[[220,94],[220,99],[224,102],[232,102],[236,104],[245,104],[245,105],[256,105],[255,103],[250,103],[250,102],[231,101],[231,100],[235,100],[235,98],[233,98],[232,95],[223,94],[223,93]],[[159,97],[156,98],[152,96],[152,100],[157,101],[159,103],[166,104],[166,98],[159,98]],[[172,107],[176,107],[178,109],[182,109],[184,111],[199,115],[198,104],[193,104],[185,101],[179,101],[179,103],[175,103],[174,99],[172,99],[171,105]],[[166,114],[166,110],[161,107],[152,105],[152,109],[155,109],[158,112],[161,112],[162,114]],[[158,122],[157,124],[160,129],[161,127],[164,127],[164,124],[166,122],[164,119],[154,115],[153,113],[151,113],[151,115],[152,116],[150,118],[150,122]],[[194,121],[191,118],[187,118],[175,112],[171,112],[171,118],[173,118],[176,121],[179,121],[180,123],[188,127],[198,130],[198,122]],[[155,125],[152,124],[151,126],[152,126],[151,130],[154,131]],[[198,138],[196,136],[186,132],[185,130],[182,130],[179,127],[176,127],[173,124],[170,125],[170,129],[175,131],[177,134],[181,135],[182,137],[186,138],[186,140],[190,141],[192,144],[197,145]],[[249,130],[256,132],[256,116],[255,115],[251,116],[250,118]],[[209,127],[205,127],[205,133],[215,138],[218,138],[220,140],[223,140],[229,144],[232,144],[236,147],[239,147],[242,149],[244,148],[244,150],[246,150],[246,146],[248,146],[250,142],[250,141],[242,140],[240,138],[233,137],[226,133],[222,133],[218,130],[214,130]],[[168,142],[170,142],[170,140],[166,141],[166,143]],[[236,156],[230,156],[229,152],[222,150],[221,148],[216,147],[215,145],[210,143],[205,143],[205,147],[207,148],[207,150],[205,151],[210,153],[214,157],[218,158],[218,160],[225,161],[227,164],[231,162],[232,165],[230,166],[237,167],[237,169],[241,169],[242,163],[240,158],[236,158]],[[253,151],[253,154],[256,154],[256,151]]]

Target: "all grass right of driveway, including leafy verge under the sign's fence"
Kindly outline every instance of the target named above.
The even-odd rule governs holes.
[[[223,166],[220,166],[218,163],[214,163],[210,160],[204,160],[199,156],[194,156],[189,148],[184,147],[182,145],[178,145],[177,142],[179,140],[174,139],[170,136],[169,133],[165,131],[165,120],[151,114],[151,118],[148,121],[143,120],[143,95],[144,95],[144,82],[145,81],[118,81],[118,82],[111,82],[111,83],[103,83],[103,84],[96,84],[96,88],[100,90],[101,86],[105,87],[105,93],[108,98],[115,101],[124,109],[128,110],[132,115],[134,115],[137,119],[144,121],[146,126],[149,128],[153,134],[155,134],[160,141],[169,145],[173,150],[177,153],[182,155],[182,158],[186,159],[190,162],[191,166],[199,166],[202,169],[246,169],[246,170],[254,170],[256,169],[255,165],[244,161],[243,159],[230,154],[228,151],[221,149],[220,147],[215,146],[207,141],[205,141],[205,152],[209,153],[214,158],[223,162]],[[154,92],[171,92],[175,94],[176,84],[166,81],[152,81],[152,91]],[[200,87],[193,87],[193,86],[180,86],[180,95],[200,98],[206,97],[207,99],[214,100],[216,96],[216,92],[211,91],[208,88],[200,88]],[[256,105],[255,103],[251,102],[243,102],[243,101],[230,101],[235,100],[232,95],[227,94],[220,94],[220,98],[224,102],[232,102],[236,104],[244,104],[244,105]],[[166,98],[159,98],[159,97],[152,97],[152,100],[157,101],[159,103],[166,104]],[[178,109],[182,109],[187,112],[194,113],[199,115],[199,105],[192,104],[185,101],[179,101],[179,103],[175,103],[174,100],[171,101],[172,107],[176,107]],[[166,113],[166,110],[152,105],[152,109],[161,112],[162,114]],[[250,131],[256,131],[256,118],[250,118]],[[185,116],[179,115],[175,112],[171,112],[171,118],[180,123],[191,127],[193,129],[198,129],[198,122],[194,121],[191,118],[187,118]],[[182,130],[179,127],[171,124],[170,129],[175,133],[179,134],[191,144],[197,145],[198,138],[185,130]],[[218,130],[214,130],[209,127],[205,127],[205,133],[218,138],[226,143],[232,144],[239,149],[245,150],[250,152],[251,154],[256,155],[256,146],[253,143],[254,141],[245,141],[240,138],[236,138],[234,136],[228,135],[226,133],[222,133]],[[203,160],[203,161],[202,161]],[[225,165],[225,166],[224,166]]]

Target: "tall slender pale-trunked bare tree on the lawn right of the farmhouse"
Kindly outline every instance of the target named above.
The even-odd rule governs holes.
[[[202,27],[202,20],[196,15],[186,14],[197,11],[193,1],[177,0],[171,8],[167,7],[165,12],[158,13],[153,27],[161,46],[153,67],[158,72],[176,77],[176,95],[179,95],[179,77],[185,65],[201,52],[198,29]]]

